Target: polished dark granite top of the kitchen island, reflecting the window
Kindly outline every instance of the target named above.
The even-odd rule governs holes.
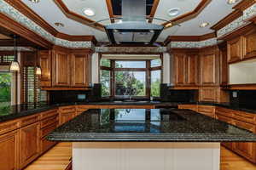
[[[68,142],[255,142],[256,134],[195,111],[89,110],[49,133]]]

